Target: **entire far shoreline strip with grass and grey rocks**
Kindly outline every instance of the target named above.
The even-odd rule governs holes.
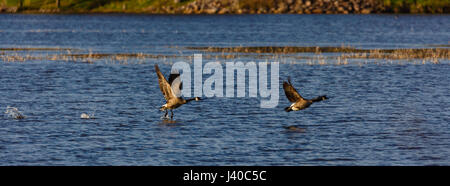
[[[450,0],[0,0],[0,13],[447,14]]]

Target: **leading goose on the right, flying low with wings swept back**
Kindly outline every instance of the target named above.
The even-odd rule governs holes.
[[[284,93],[286,94],[286,97],[289,99],[290,102],[292,102],[292,105],[289,107],[284,108],[286,112],[290,111],[297,111],[297,110],[303,110],[305,108],[308,108],[311,104],[314,102],[319,102],[322,100],[328,99],[327,96],[318,96],[314,99],[305,99],[295,90],[295,88],[292,86],[291,78],[288,77],[288,82],[283,82],[283,89]]]

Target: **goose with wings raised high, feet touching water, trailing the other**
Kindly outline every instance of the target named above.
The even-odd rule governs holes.
[[[166,111],[164,117],[167,117],[167,110],[170,110],[170,118],[173,119],[173,109],[180,107],[183,104],[189,103],[190,101],[199,101],[199,97],[194,97],[191,99],[183,99],[181,97],[181,89],[183,88],[183,82],[181,82],[180,74],[170,74],[169,82],[164,78],[163,74],[159,70],[157,64],[155,64],[156,74],[158,75],[159,88],[166,99],[166,104],[162,105],[159,110]]]

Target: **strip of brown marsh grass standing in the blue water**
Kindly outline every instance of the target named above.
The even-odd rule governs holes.
[[[171,64],[174,60],[192,61],[193,56],[183,51],[203,52],[206,60],[240,60],[258,59],[278,61],[285,64],[307,65],[348,65],[348,64],[394,64],[411,62],[414,64],[439,64],[450,60],[449,48],[416,48],[416,49],[357,49],[349,46],[341,47],[172,47],[177,54],[161,55],[146,53],[78,53],[81,50],[68,48],[0,48],[0,61],[63,61],[108,64],[143,64],[150,59],[161,60]],[[40,53],[36,53],[40,51]],[[48,51],[51,54],[44,54]]]

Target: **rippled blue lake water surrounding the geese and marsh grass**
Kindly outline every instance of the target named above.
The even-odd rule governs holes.
[[[0,50],[3,55],[67,49],[190,56],[201,52],[184,47],[449,42],[446,15],[0,15],[0,48],[62,49]],[[260,108],[260,98],[248,96],[208,98],[176,109],[167,123],[158,110],[164,98],[154,64],[168,75],[176,60],[0,60],[0,111],[11,106],[26,116],[0,117],[0,165],[450,165],[448,59],[284,62],[275,108]],[[330,99],[285,112],[290,103],[281,83],[288,76],[303,97]],[[96,119],[80,119],[82,113]],[[304,131],[283,128],[289,125]]]

